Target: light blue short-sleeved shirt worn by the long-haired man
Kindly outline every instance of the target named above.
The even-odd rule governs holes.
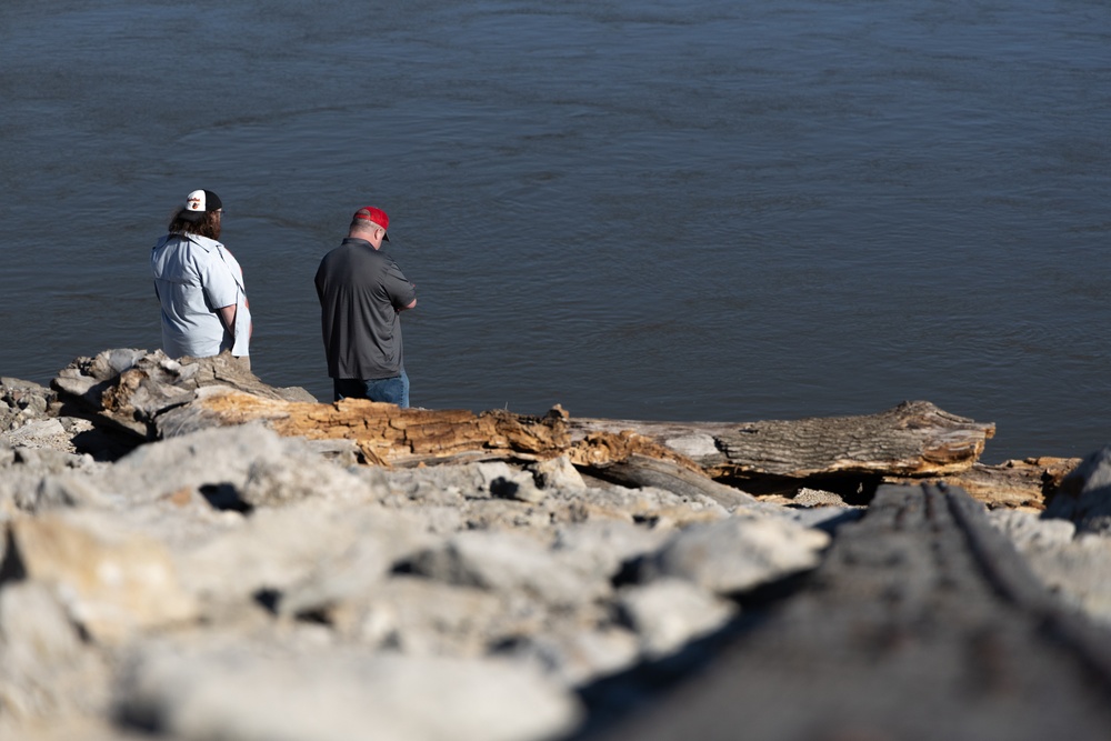
[[[162,350],[170,358],[207,358],[231,350],[249,354],[251,311],[243,269],[220,242],[199,234],[167,234],[150,254],[162,304]],[[236,304],[232,337],[217,310]]]

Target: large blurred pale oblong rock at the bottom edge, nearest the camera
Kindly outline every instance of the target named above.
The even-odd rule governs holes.
[[[570,730],[573,697],[499,661],[243,648],[149,648],[119,695],[132,723],[181,741],[527,741]]]

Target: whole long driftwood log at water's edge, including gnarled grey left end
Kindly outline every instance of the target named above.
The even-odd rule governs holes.
[[[994,433],[993,424],[925,401],[870,415],[745,423],[572,420],[558,407],[527,417],[357,400],[324,404],[300,390],[268,387],[231,358],[179,362],[141,350],[79,359],[54,379],[54,388],[148,439],[260,421],[283,435],[353,441],[376,464],[568,455],[584,468],[620,462],[621,475],[645,480],[678,481],[651,471],[649,459],[667,461],[672,472],[718,479],[948,475],[969,470]]]

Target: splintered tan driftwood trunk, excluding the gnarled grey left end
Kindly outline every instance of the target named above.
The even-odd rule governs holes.
[[[374,463],[412,464],[504,451],[523,458],[568,454],[578,465],[600,467],[640,453],[681,461],[713,477],[761,473],[798,479],[829,473],[939,475],[964,471],[994,432],[993,425],[977,424],[919,401],[868,417],[721,425],[714,443],[724,452],[699,457],[689,444],[675,444],[674,434],[645,434],[634,422],[572,422],[558,408],[543,418],[506,411],[476,415],[356,400],[304,404],[213,391],[164,417],[160,422],[164,434],[263,419],[286,435],[353,439]],[[678,427],[669,429],[673,433]],[[572,428],[578,431],[574,438]],[[683,439],[698,434],[708,433],[704,427],[692,424]]]

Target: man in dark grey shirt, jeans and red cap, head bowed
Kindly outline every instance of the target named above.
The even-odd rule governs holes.
[[[348,237],[317,269],[320,327],[334,399],[409,405],[400,313],[417,306],[417,287],[386,252],[390,218],[356,211]]]

